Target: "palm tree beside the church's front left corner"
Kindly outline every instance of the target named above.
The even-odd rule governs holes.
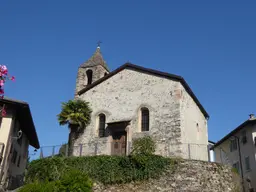
[[[80,99],[62,103],[61,113],[57,117],[60,125],[69,127],[69,155],[72,154],[75,139],[90,123],[91,112],[89,103]]]

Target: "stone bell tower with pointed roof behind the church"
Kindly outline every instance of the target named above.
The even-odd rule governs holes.
[[[81,64],[78,69],[75,96],[77,96],[77,93],[83,88],[91,85],[108,73],[108,66],[103,59],[100,51],[100,45],[98,44],[95,53],[90,59]]]

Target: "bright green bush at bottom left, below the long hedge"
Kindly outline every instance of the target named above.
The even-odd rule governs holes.
[[[91,192],[92,181],[79,170],[69,170],[59,180],[34,182],[22,187],[19,192]]]

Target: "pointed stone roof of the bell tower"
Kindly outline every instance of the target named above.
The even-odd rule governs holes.
[[[81,68],[94,67],[96,65],[102,65],[107,71],[109,71],[107,63],[104,61],[100,51],[100,47],[97,47],[95,53],[86,62],[80,65]]]

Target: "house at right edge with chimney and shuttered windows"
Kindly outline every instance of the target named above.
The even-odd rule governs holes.
[[[256,118],[253,114],[212,149],[216,162],[236,168],[245,188],[251,185],[256,190]]]

